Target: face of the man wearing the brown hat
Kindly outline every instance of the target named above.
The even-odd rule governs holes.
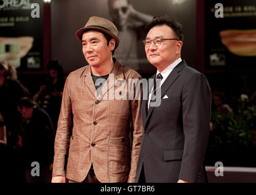
[[[91,66],[104,66],[110,62],[112,51],[115,49],[115,40],[109,43],[104,34],[95,30],[89,30],[82,37],[83,55]]]

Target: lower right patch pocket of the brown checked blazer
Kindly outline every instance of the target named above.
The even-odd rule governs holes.
[[[110,138],[108,146],[110,174],[128,174],[130,171],[130,141],[125,137]]]

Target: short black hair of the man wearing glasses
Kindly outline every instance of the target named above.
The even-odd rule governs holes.
[[[146,32],[148,33],[149,30],[152,29],[152,27],[154,26],[159,26],[164,24],[169,26],[173,30],[175,35],[178,37],[179,41],[184,40],[183,26],[176,19],[173,19],[168,15],[154,16],[154,18],[152,18],[152,20],[146,26]]]

